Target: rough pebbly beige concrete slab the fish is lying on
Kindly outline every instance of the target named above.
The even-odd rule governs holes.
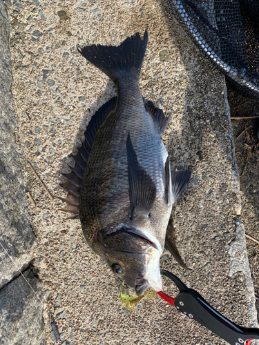
[[[61,202],[50,199],[28,166],[30,161],[52,195],[64,195],[59,181],[60,171],[72,163],[68,155],[76,152],[90,117],[116,92],[76,46],[119,44],[145,29],[142,95],[166,114],[173,112],[164,136],[171,167],[193,172],[189,189],[173,209],[176,244],[193,270],[184,272],[167,253],[162,268],[234,322],[256,325],[254,309],[248,308],[253,293],[242,229],[240,247],[232,250],[240,196],[224,78],[167,17],[164,6],[143,0],[15,0],[9,6],[16,135],[23,177],[35,201],[30,204],[39,242],[35,265],[46,308],[66,344],[225,344],[159,297],[142,301],[135,311],[122,306],[113,274],[86,245],[79,221],[66,220]],[[244,263],[245,272],[232,270],[230,277],[229,253]],[[166,280],[164,291],[176,294]],[[48,325],[48,313],[45,317]],[[52,344],[48,326],[46,333]]]

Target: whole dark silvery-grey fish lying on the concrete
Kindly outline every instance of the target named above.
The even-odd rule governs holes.
[[[145,31],[143,38],[137,32],[119,46],[77,48],[114,81],[117,97],[90,119],[75,166],[61,184],[68,192],[62,210],[79,217],[88,246],[139,296],[148,286],[162,290],[164,246],[186,268],[166,230],[191,177],[190,171],[171,172],[162,141],[171,116],[152,101],[144,104],[140,93],[147,43]]]

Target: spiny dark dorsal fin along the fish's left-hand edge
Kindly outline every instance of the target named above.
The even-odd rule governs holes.
[[[95,115],[92,116],[86,131],[84,132],[85,141],[81,142],[77,155],[73,156],[75,160],[74,168],[69,166],[71,172],[68,174],[62,174],[67,181],[64,184],[60,184],[60,186],[66,189],[68,195],[66,199],[60,198],[62,201],[67,203],[64,208],[61,208],[61,211],[73,213],[73,215],[68,217],[68,219],[76,219],[79,217],[80,188],[84,170],[86,170],[87,160],[90,155],[90,149],[100,126],[102,126],[106,117],[115,108],[116,101],[117,97],[113,97],[108,102],[104,103],[104,105],[95,112]]]

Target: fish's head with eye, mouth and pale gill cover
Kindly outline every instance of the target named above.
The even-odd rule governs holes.
[[[102,236],[104,258],[113,273],[141,296],[146,287],[162,290],[160,249],[135,228],[121,224]]]

